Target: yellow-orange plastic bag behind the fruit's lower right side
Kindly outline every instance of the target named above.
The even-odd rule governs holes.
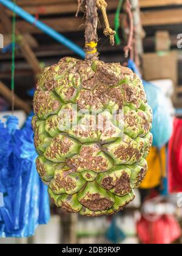
[[[140,188],[154,188],[161,185],[161,179],[166,177],[166,146],[161,149],[152,147],[147,157],[149,169]]]

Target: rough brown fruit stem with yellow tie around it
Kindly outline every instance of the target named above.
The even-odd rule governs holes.
[[[96,0],[86,0],[86,60],[98,59],[99,53],[96,49],[98,43],[97,27],[98,13],[96,7]]]

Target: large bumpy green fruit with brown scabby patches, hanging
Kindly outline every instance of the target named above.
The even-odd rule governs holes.
[[[44,69],[33,106],[36,166],[58,207],[100,216],[134,199],[152,145],[152,111],[136,74],[120,63],[66,57]],[[123,111],[122,127],[113,123],[113,109]],[[93,111],[109,128],[92,129]],[[65,129],[67,119],[72,126]]]

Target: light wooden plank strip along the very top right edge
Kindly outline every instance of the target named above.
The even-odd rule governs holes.
[[[182,4],[182,0],[140,0],[141,8],[180,4]]]

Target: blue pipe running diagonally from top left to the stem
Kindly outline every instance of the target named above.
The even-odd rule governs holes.
[[[59,34],[56,30],[52,29],[51,27],[47,26],[46,24],[42,23],[39,20],[36,20],[35,16],[30,15],[30,13],[23,10],[17,4],[13,3],[9,0],[0,0],[0,3],[7,7],[9,10],[12,10],[25,21],[29,22],[30,24],[38,27],[38,29],[42,30],[45,34],[49,35],[50,37],[54,38],[61,44],[64,44],[67,48],[78,54],[80,57],[84,59],[85,53],[83,49],[81,49],[78,45],[70,41],[68,38],[64,37],[64,35]]]

